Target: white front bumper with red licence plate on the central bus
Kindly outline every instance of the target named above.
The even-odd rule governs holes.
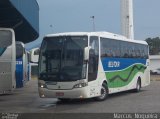
[[[74,88],[71,90],[50,90],[47,88],[39,87],[39,96],[41,98],[89,98],[89,91],[87,87]]]

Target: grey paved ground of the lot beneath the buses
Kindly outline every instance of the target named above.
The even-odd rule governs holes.
[[[153,77],[152,77],[153,78]],[[160,112],[160,81],[140,93],[123,92],[102,102],[93,99],[60,102],[57,99],[42,99],[38,96],[37,80],[31,80],[24,88],[12,95],[0,96],[0,112],[14,113],[136,113]]]

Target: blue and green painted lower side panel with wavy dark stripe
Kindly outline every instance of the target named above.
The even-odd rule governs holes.
[[[138,77],[145,81],[146,59],[103,58],[102,65],[108,87],[113,92],[136,88]]]

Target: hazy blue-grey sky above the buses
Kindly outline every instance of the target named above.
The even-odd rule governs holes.
[[[39,4],[39,38],[27,44],[40,44],[50,33],[93,31],[121,34],[121,0],[37,0]],[[133,0],[134,36],[145,40],[160,36],[160,0]]]

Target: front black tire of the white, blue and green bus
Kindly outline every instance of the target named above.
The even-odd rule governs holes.
[[[99,97],[96,97],[95,99],[97,101],[104,101],[108,97],[108,86],[103,83],[101,88],[101,95]]]

